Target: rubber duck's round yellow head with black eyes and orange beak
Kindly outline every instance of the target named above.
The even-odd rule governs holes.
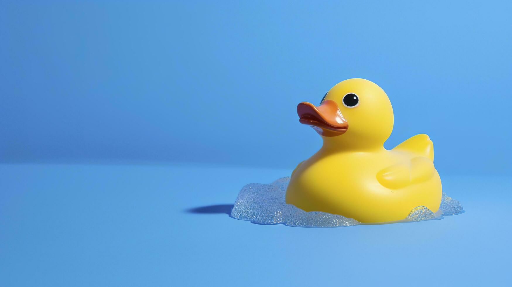
[[[354,78],[336,84],[319,106],[298,104],[297,114],[301,124],[311,126],[324,138],[324,145],[341,144],[355,149],[382,147],[393,130],[393,108],[388,95],[366,79]]]

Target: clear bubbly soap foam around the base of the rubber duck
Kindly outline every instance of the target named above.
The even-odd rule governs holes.
[[[342,227],[355,226],[361,223],[353,218],[327,212],[306,212],[287,204],[285,201],[286,188],[290,177],[283,177],[269,185],[250,183],[238,194],[231,210],[231,217],[249,220],[258,224],[285,224],[294,227]],[[442,215],[456,215],[464,212],[461,204],[443,193],[440,211],[434,213],[424,206],[414,208],[403,220],[396,222],[423,221],[441,219]]]

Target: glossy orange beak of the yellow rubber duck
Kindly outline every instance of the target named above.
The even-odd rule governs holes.
[[[322,136],[342,135],[349,128],[338,104],[333,100],[324,100],[318,107],[303,101],[297,106],[297,114],[301,124],[311,126]]]

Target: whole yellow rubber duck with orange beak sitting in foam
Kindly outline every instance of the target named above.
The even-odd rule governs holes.
[[[344,80],[321,105],[303,102],[297,113],[324,145],[292,172],[286,203],[360,222],[402,220],[418,206],[439,209],[441,179],[432,141],[418,134],[392,150],[383,147],[393,130],[393,108],[379,86]]]

